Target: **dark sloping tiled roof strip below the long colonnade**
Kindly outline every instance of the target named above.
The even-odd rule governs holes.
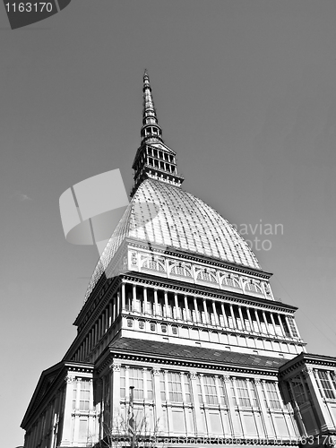
[[[287,362],[283,358],[263,357],[247,353],[237,353],[227,350],[203,349],[186,345],[159,342],[154,340],[137,340],[121,338],[110,344],[114,351],[131,352],[133,355],[147,355],[147,357],[163,357],[171,359],[183,359],[202,363],[223,364],[225,366],[239,366],[261,369],[278,369]]]

